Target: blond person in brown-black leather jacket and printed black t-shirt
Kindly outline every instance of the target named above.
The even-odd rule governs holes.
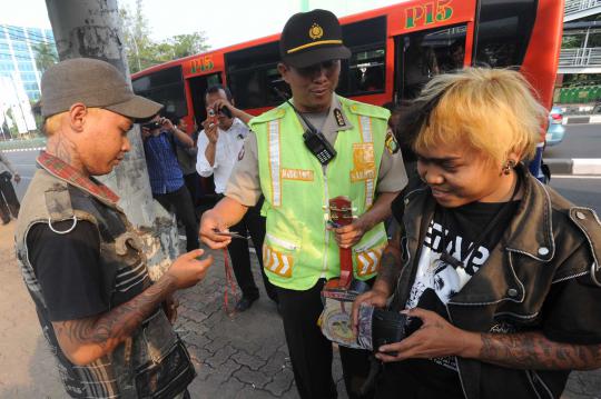
[[[522,163],[546,120],[531,90],[516,71],[467,68],[404,111],[417,176],[353,307],[359,330],[373,306],[401,323],[387,335],[408,332],[374,348],[378,399],[560,398],[571,370],[601,367],[601,226]]]

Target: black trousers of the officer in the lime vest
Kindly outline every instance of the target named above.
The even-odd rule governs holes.
[[[325,280],[321,279],[306,291],[276,288],[294,380],[302,399],[337,398],[336,385],[332,378],[332,342],[317,326],[324,309],[319,295],[324,283]],[[370,373],[371,353],[344,347],[339,347],[339,350],[348,398],[373,398],[373,392],[364,396],[358,393]]]

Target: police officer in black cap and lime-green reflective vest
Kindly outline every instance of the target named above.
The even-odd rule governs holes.
[[[230,242],[226,230],[243,218],[260,194],[267,216],[264,267],[276,286],[296,387],[302,398],[336,398],[332,378],[332,342],[317,327],[323,310],[321,291],[339,276],[339,248],[351,248],[354,277],[371,281],[386,243],[382,221],[406,183],[402,157],[387,134],[390,112],[334,93],[343,44],[336,17],[325,10],[293,16],[280,37],[277,68],[292,89],[289,103],[254,118],[245,154],[234,169],[226,198],[203,217],[200,235],[211,248]],[[336,156],[322,164],[305,144],[308,124],[322,131]],[[386,138],[388,137],[388,140]],[[386,146],[388,143],[388,146]],[[347,196],[352,225],[328,227],[328,200]],[[362,260],[376,259],[363,265]],[[359,397],[368,373],[367,353],[341,348],[346,390]]]

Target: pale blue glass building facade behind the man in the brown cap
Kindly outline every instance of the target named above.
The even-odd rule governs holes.
[[[40,98],[35,46],[41,42],[50,43],[56,51],[50,29],[0,24],[0,77],[11,78],[32,101]]]

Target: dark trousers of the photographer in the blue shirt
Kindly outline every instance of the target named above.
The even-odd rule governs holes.
[[[152,193],[152,197],[159,201],[162,208],[175,213],[177,221],[184,225],[186,229],[186,250],[189,252],[193,249],[198,249],[198,221],[196,220],[190,193],[186,184],[174,192],[165,194]]]

